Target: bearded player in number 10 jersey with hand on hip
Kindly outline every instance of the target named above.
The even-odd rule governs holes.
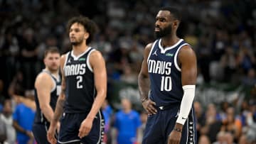
[[[144,50],[138,80],[142,105],[149,113],[144,144],[196,143],[191,109],[196,89],[196,55],[176,35],[180,22],[177,9],[160,9],[154,30],[158,39]]]

